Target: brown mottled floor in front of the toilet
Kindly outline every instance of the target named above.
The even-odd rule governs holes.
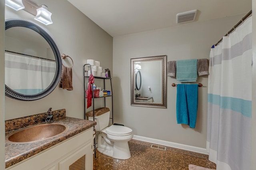
[[[165,150],[151,148],[152,143],[132,139],[128,142],[131,158],[114,159],[96,152],[94,170],[188,170],[189,164],[216,169],[208,155],[166,147]]]

